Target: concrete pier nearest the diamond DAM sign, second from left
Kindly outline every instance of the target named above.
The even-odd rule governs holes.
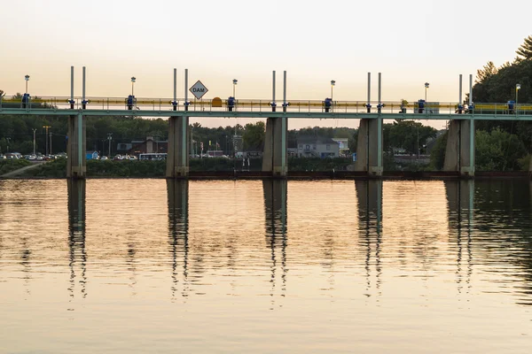
[[[167,178],[189,175],[188,117],[168,119]]]

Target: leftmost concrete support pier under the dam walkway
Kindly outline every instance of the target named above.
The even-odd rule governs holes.
[[[82,114],[68,116],[68,142],[66,144],[66,177],[82,179],[87,175],[87,127]]]

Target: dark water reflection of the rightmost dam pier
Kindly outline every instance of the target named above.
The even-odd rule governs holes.
[[[458,293],[462,292],[464,262],[466,263],[465,283],[466,292],[471,289],[471,275],[473,273],[471,252],[471,232],[473,229],[473,198],[474,181],[445,181],[445,194],[449,205],[449,227],[457,230],[457,284]],[[452,231],[450,232],[452,235]],[[465,234],[465,235],[464,235]],[[465,252],[467,255],[465,256]],[[466,257],[466,259],[464,259]]]

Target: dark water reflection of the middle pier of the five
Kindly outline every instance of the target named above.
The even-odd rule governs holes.
[[[271,292],[273,296],[277,282],[278,248],[281,255],[281,291],[286,292],[286,180],[262,181],[264,191],[264,216],[266,228],[266,242],[271,250]]]

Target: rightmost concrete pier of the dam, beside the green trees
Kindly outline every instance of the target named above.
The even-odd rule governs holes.
[[[474,120],[450,120],[443,170],[474,176]]]

